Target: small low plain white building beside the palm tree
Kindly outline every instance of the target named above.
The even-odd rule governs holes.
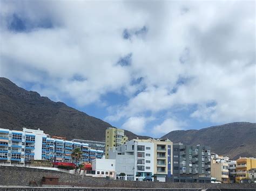
[[[95,159],[92,161],[92,171],[95,171],[95,177],[115,177],[116,160],[114,159]]]

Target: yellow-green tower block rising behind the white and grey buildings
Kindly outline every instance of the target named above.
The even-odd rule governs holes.
[[[123,129],[108,128],[106,129],[105,138],[105,158],[109,158],[109,149],[123,145],[128,141],[128,137],[124,135]]]

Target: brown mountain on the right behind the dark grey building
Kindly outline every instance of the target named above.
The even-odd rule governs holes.
[[[219,155],[256,157],[256,123],[235,122],[200,130],[171,131],[162,138],[173,143],[208,145]]]

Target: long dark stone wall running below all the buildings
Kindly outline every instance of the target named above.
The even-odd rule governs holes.
[[[105,178],[93,178],[45,169],[35,169],[15,166],[0,166],[0,185],[28,186],[30,181],[41,185],[43,176],[59,178],[59,185],[80,186],[93,188],[198,188],[198,189],[234,189],[252,188],[254,184],[217,184],[217,183],[180,183],[180,182],[147,182],[147,181],[118,181]]]

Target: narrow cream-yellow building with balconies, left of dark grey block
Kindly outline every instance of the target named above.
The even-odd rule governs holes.
[[[166,181],[172,174],[172,146],[169,139],[153,140],[154,143],[154,175],[158,181]]]

